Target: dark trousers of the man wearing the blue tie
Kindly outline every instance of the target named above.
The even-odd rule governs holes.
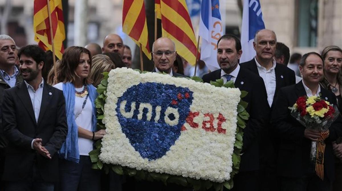
[[[260,187],[259,174],[259,170],[239,172],[233,178],[234,186],[231,191],[258,191]]]

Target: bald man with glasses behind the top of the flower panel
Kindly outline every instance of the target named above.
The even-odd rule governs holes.
[[[157,39],[153,43],[152,50],[152,57],[155,66],[152,72],[165,72],[174,77],[186,77],[180,73],[172,71],[173,62],[176,59],[177,52],[175,44],[171,39],[167,37]]]

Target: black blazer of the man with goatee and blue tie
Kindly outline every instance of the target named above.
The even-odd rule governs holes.
[[[221,78],[221,69],[203,76],[203,81],[210,83]],[[247,112],[250,118],[244,129],[241,163],[239,171],[258,170],[259,166],[259,140],[258,136],[269,115],[265,84],[260,76],[251,71],[240,68],[234,83],[240,91],[247,91],[248,95],[242,100],[248,102]]]

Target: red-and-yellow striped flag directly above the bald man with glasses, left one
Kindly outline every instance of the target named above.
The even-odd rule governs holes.
[[[148,44],[148,31],[144,0],[124,0],[122,9],[122,31],[140,46],[142,51],[152,59]]]

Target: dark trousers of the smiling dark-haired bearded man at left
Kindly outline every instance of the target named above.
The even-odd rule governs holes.
[[[53,191],[54,183],[52,182],[45,182],[39,170],[34,164],[32,166],[32,174],[29,175],[31,177],[30,180],[27,181],[7,181],[5,186],[5,191]]]

